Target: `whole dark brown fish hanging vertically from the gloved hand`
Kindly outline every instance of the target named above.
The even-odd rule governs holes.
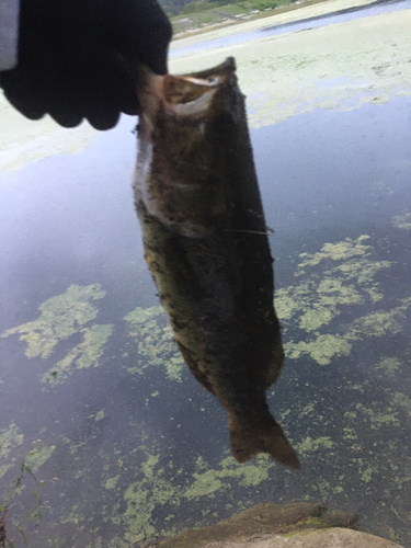
[[[297,469],[266,400],[284,350],[236,61],[182,76],[139,75],[134,197],[174,340],[227,411],[235,459],[267,453]]]

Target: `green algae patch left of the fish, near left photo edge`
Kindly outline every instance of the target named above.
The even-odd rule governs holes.
[[[83,326],[94,320],[99,313],[92,301],[104,296],[105,292],[101,289],[100,284],[71,285],[66,293],[47,299],[38,307],[41,315],[37,320],[8,329],[0,336],[20,334],[20,341],[27,344],[27,357],[48,358],[60,341],[81,334],[82,342],[42,376],[43,384],[54,387],[64,383],[71,375],[73,367],[83,369],[99,365],[113,326]]]

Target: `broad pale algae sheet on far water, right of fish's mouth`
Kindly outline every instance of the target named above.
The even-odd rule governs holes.
[[[410,10],[402,10],[304,33],[261,33],[243,44],[172,57],[170,69],[197,71],[235,56],[251,127],[317,109],[351,111],[364,104],[378,109],[392,98],[411,95],[410,27]]]

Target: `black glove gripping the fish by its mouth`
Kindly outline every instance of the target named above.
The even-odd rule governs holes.
[[[138,114],[130,67],[167,72],[171,34],[157,0],[22,0],[19,64],[0,85],[31,119],[109,129]]]

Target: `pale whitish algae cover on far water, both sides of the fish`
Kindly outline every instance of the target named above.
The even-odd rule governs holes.
[[[185,47],[238,32],[334,12],[364,0],[330,0],[180,39]],[[173,73],[209,68],[235,56],[251,127],[271,125],[313,109],[356,109],[411,94],[411,10],[368,16],[306,32],[256,38],[170,60]],[[88,123],[75,129],[59,127],[48,116],[32,122],[0,95],[0,169],[16,170],[58,153],[90,146],[100,132]]]

